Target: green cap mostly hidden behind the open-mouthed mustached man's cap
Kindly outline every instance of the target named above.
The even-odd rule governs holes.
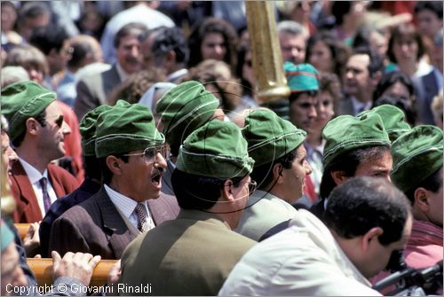
[[[96,155],[96,124],[100,113],[110,109],[111,106],[98,106],[91,110],[91,112],[83,115],[80,121],[79,129],[82,135],[82,150],[84,156]]]

